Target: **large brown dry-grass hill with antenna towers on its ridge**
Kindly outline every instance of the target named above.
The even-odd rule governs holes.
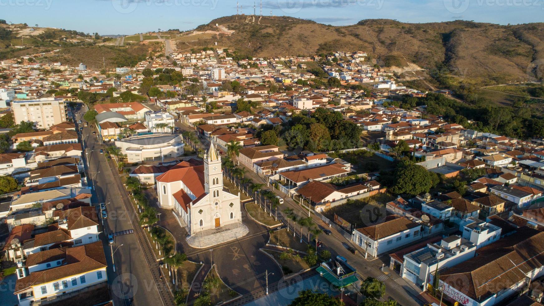
[[[362,20],[336,27],[286,16],[227,16],[184,33],[177,46],[190,50],[217,41],[254,57],[361,50],[401,76],[421,68],[437,83],[488,85],[534,79],[531,63],[544,58],[543,30],[544,23]]]

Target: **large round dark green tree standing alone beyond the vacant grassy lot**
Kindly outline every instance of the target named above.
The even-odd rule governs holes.
[[[400,163],[395,169],[394,183],[390,192],[395,194],[417,195],[429,192],[432,179],[429,171],[422,166],[412,163]]]

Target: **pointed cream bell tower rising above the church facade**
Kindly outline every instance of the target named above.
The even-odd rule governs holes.
[[[223,173],[221,170],[221,156],[212,143],[204,156],[204,188],[209,194],[210,203],[221,201],[223,192]]]

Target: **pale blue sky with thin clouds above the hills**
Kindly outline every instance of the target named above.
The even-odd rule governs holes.
[[[253,0],[239,0],[253,14]],[[256,13],[259,14],[260,0]],[[333,26],[363,19],[424,23],[473,20],[506,25],[544,22],[544,0],[263,0],[263,15],[293,16]],[[190,30],[236,14],[236,0],[0,0],[0,19],[85,33]]]

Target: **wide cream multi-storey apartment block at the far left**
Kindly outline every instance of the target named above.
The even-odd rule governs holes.
[[[66,105],[63,99],[53,97],[39,100],[22,100],[11,103],[15,124],[30,121],[37,128],[50,128],[66,121]]]

